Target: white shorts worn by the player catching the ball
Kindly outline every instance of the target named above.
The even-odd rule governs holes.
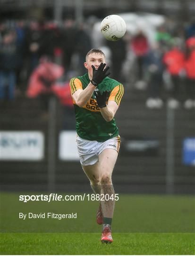
[[[106,148],[115,149],[119,153],[120,136],[113,137],[104,142],[87,140],[77,136],[76,143],[81,165],[94,165],[98,161],[98,156]]]

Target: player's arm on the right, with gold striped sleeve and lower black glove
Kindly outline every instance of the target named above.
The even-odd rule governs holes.
[[[124,88],[122,84],[119,84],[118,86],[116,86],[111,91],[111,93],[110,91],[103,91],[102,94],[100,92],[95,92],[96,101],[100,108],[102,117],[107,122],[110,122],[114,118],[119,108],[123,93],[124,93]],[[108,104],[106,104],[107,100],[108,100]]]

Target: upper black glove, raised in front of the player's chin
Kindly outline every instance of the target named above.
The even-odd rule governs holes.
[[[92,79],[91,83],[94,86],[97,86],[99,83],[102,82],[102,80],[106,76],[110,75],[110,72],[106,73],[109,70],[110,67],[107,66],[104,69],[105,66],[106,66],[106,64],[101,62],[101,64],[99,65],[98,69],[96,70],[95,67],[92,65],[92,68],[93,68],[93,79]]]

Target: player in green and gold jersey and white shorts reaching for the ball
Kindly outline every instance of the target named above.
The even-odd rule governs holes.
[[[102,243],[111,243],[111,222],[115,193],[111,175],[116,163],[120,137],[114,116],[123,96],[123,85],[111,79],[105,55],[92,49],[84,63],[88,70],[70,80],[76,114],[77,149],[82,168],[96,194],[109,195],[100,201],[96,221],[102,225]]]

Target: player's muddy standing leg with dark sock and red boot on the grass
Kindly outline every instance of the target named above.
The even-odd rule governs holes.
[[[118,152],[112,148],[104,149],[99,155],[101,194],[105,195],[104,201],[101,201],[103,213],[102,243],[111,243],[113,241],[111,237],[111,221],[114,212],[115,193],[111,175],[117,157]],[[109,200],[105,200],[108,199],[106,195]]]

